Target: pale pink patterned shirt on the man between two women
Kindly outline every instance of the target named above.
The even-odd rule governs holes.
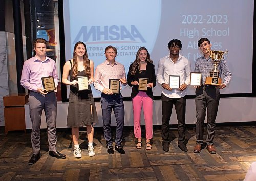
[[[99,64],[95,71],[94,87],[103,92],[104,88],[109,88],[109,79],[126,78],[124,66],[115,61],[113,65],[107,60]],[[121,87],[120,87],[121,88]]]

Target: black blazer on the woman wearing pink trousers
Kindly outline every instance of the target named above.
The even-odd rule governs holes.
[[[139,86],[138,85],[132,85],[132,81],[137,80],[139,82],[139,78],[148,78],[148,83],[153,83],[153,87],[156,86],[156,74],[155,74],[155,65],[152,63],[148,63],[146,65],[146,75],[141,77],[141,74],[139,73],[139,70],[137,67],[137,71],[134,75],[131,75],[130,71],[132,69],[133,64],[130,65],[128,75],[127,75],[127,82],[128,85],[131,87],[133,86],[132,93],[131,93],[131,99],[134,98],[139,93]],[[154,99],[152,88],[148,88],[146,90],[147,96]]]

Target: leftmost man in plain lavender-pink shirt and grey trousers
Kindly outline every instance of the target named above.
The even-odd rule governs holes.
[[[58,74],[54,60],[46,56],[47,41],[42,38],[34,40],[36,55],[24,62],[20,84],[30,90],[29,111],[32,122],[31,144],[33,155],[28,164],[36,163],[40,157],[40,126],[42,110],[45,110],[47,122],[47,136],[49,143],[49,155],[57,159],[65,159],[66,156],[56,149],[56,112],[57,112],[57,85]],[[56,90],[45,92],[42,85],[42,77],[53,76]]]

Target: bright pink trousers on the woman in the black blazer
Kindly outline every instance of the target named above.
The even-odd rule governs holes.
[[[140,91],[133,99],[133,122],[134,134],[136,138],[141,138],[140,114],[143,105],[144,119],[146,125],[146,139],[153,137],[153,100],[147,96],[146,92]]]

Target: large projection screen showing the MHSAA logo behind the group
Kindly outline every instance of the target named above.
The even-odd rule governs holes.
[[[225,59],[232,80],[221,93],[251,93],[253,3],[253,0],[65,0],[66,59],[72,58],[74,44],[83,41],[96,68],[105,61],[104,49],[111,44],[117,48],[116,61],[125,66],[127,75],[137,50],[143,46],[150,52],[157,70],[159,59],[169,54],[168,42],[179,39],[180,54],[188,58],[193,71],[196,59],[202,56],[197,41],[207,37],[212,50],[228,50]],[[100,97],[101,93],[91,87],[94,97]],[[153,92],[155,96],[161,95],[160,85]],[[195,89],[189,87],[187,94],[194,95]],[[130,97],[131,87],[123,87],[122,95]]]

